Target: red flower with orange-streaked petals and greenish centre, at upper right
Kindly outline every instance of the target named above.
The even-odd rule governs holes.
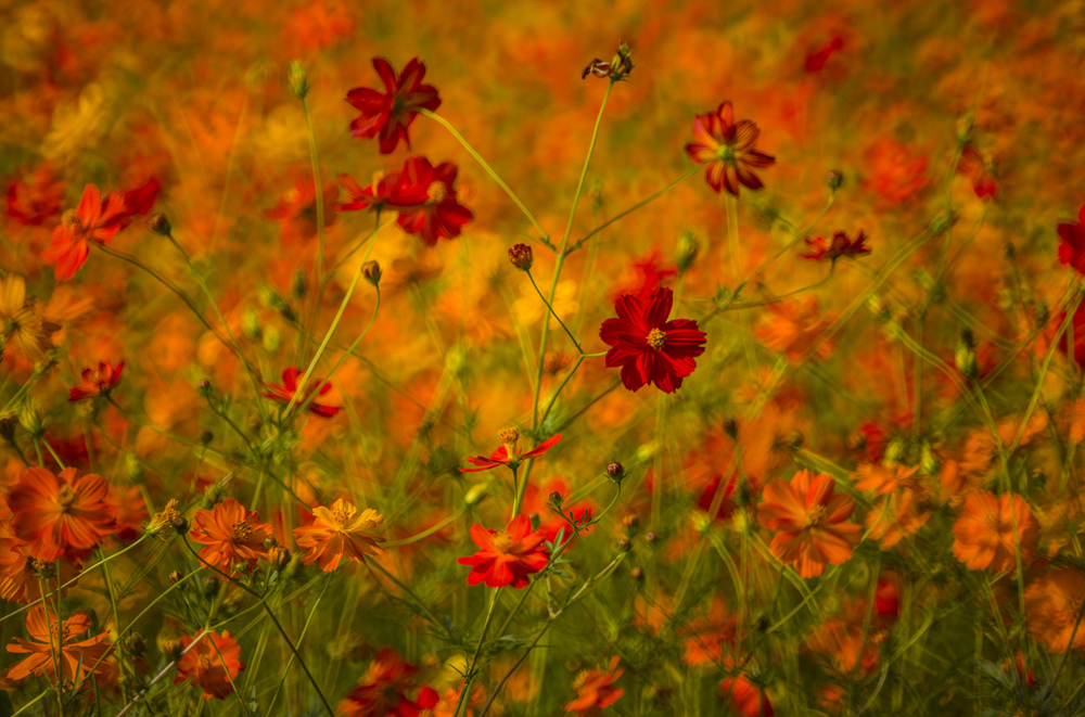
[[[749,119],[736,124],[730,101],[715,112],[697,115],[693,120],[695,142],[686,145],[686,154],[697,164],[709,163],[709,187],[718,193],[726,189],[739,195],[739,184],[762,189],[764,184],[752,169],[771,167],[776,158],[754,149],[761,130]]]

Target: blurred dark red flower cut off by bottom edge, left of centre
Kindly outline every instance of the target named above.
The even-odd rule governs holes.
[[[346,717],[419,717],[438,702],[437,691],[423,687],[411,700],[412,679],[418,666],[404,662],[392,648],[376,653],[366,674],[350,694],[339,703],[336,712]]]

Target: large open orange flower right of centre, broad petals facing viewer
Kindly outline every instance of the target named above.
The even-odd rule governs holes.
[[[852,556],[860,528],[846,523],[855,503],[833,495],[832,477],[804,470],[791,483],[773,481],[765,486],[757,520],[776,537],[769,549],[782,563],[793,565],[800,577],[815,577],[826,565],[841,565]]]

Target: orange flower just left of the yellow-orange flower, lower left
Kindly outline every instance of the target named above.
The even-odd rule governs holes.
[[[245,563],[252,569],[257,560],[267,555],[264,540],[271,537],[271,526],[260,523],[256,512],[227,498],[214,510],[196,512],[189,537],[207,546],[200,551],[200,558],[229,573],[234,563]]]

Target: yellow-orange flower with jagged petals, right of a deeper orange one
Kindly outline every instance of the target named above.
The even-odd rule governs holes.
[[[312,510],[312,525],[294,528],[294,540],[306,549],[304,563],[316,562],[326,573],[339,567],[346,558],[352,563],[362,563],[366,555],[376,555],[384,538],[374,530],[384,516],[371,508],[355,516],[358,507],[340,498],[331,508],[321,505]]]

